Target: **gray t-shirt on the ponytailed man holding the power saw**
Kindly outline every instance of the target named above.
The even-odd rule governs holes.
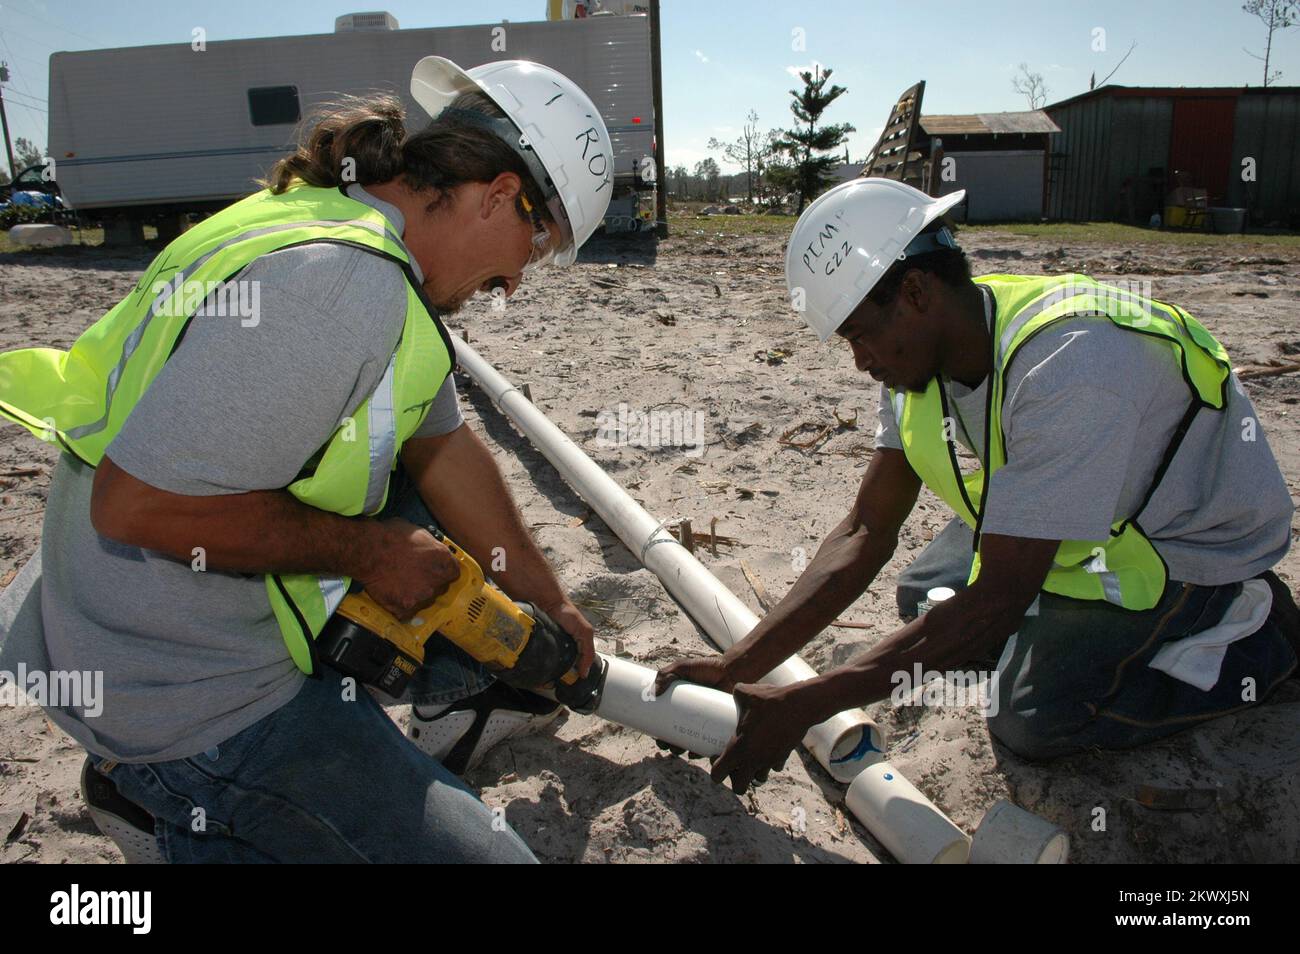
[[[402,233],[394,207],[355,186],[351,194]],[[239,277],[260,282],[259,322],[195,318],[108,446],[152,486],[187,495],[286,486],[374,390],[398,343],[406,278],[376,255],[307,244],[265,255]],[[462,422],[448,376],[417,435]],[[99,537],[92,480],[66,455],[55,472],[42,539],[48,659],[29,667],[101,671],[103,711],[51,717],[99,755],[159,762],[211,749],[289,702],[304,677],[264,577],[194,572]]]

